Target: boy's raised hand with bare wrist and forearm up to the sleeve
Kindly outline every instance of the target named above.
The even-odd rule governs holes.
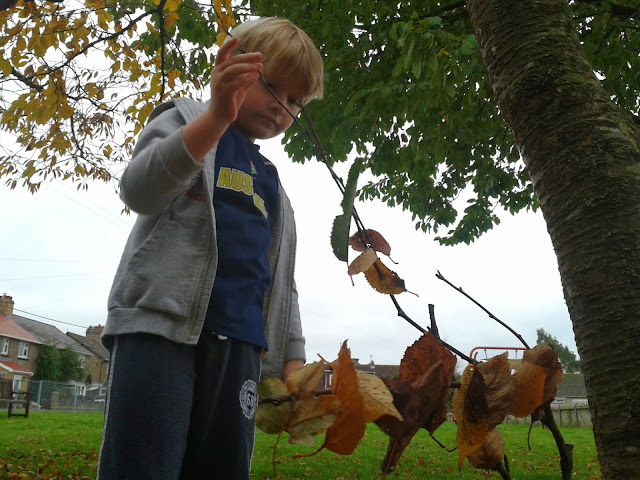
[[[209,108],[182,129],[182,139],[189,154],[196,162],[220,140],[222,134],[235,121],[247,90],[262,71],[262,54],[259,52],[232,55],[238,39],[227,41],[216,55],[211,72],[211,102]]]

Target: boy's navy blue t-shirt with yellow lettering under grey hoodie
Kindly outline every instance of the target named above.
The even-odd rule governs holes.
[[[218,142],[213,208],[218,268],[204,328],[267,349],[262,305],[267,250],[278,205],[278,173],[233,127]]]

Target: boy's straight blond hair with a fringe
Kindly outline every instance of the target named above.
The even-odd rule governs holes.
[[[262,17],[233,28],[245,52],[262,53],[266,70],[300,79],[304,103],[322,98],[324,66],[322,56],[309,36],[289,20]]]

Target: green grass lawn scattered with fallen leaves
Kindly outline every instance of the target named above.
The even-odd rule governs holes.
[[[101,413],[35,412],[28,419],[7,418],[0,411],[0,479],[62,480],[94,479],[100,437]],[[558,452],[551,433],[535,427],[531,432],[531,451],[527,448],[528,426],[499,427],[513,480],[545,480],[560,478]],[[589,429],[563,428],[567,443],[574,443],[574,478],[600,478],[595,444]],[[452,447],[455,425],[444,424],[436,438]],[[286,435],[285,435],[286,437]],[[320,452],[306,458],[291,458],[310,453],[312,449],[289,445],[280,439],[277,449],[276,474],[273,471],[274,435],[258,432],[253,461],[256,480],[331,479],[365,480],[380,477],[380,463],[387,450],[387,437],[378,428],[368,426],[365,438],[355,453],[342,457]],[[422,431],[405,450],[396,472],[387,478],[497,479],[495,472],[476,470],[465,462],[457,469],[457,452],[448,453]]]

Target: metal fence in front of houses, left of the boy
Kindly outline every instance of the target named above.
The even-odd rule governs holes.
[[[78,383],[30,380],[32,411],[56,410],[66,412],[98,412],[104,410],[104,395],[85,394],[84,385]],[[95,391],[98,393],[98,390]]]

